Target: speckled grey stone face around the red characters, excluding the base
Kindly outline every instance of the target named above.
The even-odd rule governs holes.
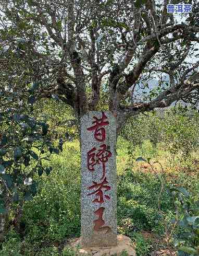
[[[103,113],[99,111],[90,111],[83,115],[81,118],[81,246],[82,247],[107,247],[117,245],[117,198],[116,198],[116,119],[111,112],[104,112],[107,119],[104,118],[104,122],[109,124],[104,126],[98,126],[97,131],[93,129],[88,131],[89,127],[93,127],[96,122],[93,117],[98,120],[102,119]],[[101,121],[98,121],[101,123]],[[101,128],[105,129],[106,138],[104,141],[96,141],[95,137],[102,140],[103,136]],[[94,136],[98,133],[97,136]],[[102,146],[106,145],[106,146]],[[100,147],[101,146],[101,147]],[[90,154],[93,158],[88,157],[88,152],[92,150]],[[110,152],[105,165],[105,173],[103,177],[103,164],[100,160],[102,155],[99,150],[106,147],[104,156]],[[97,158],[97,153],[101,156]],[[102,153],[102,151],[101,151]],[[89,164],[88,164],[89,159]],[[92,166],[92,163],[94,165]],[[88,167],[89,166],[89,167]],[[89,170],[93,168],[93,170]],[[106,180],[104,180],[106,178]],[[96,184],[107,181],[104,186],[101,187]],[[96,183],[94,183],[96,182]],[[94,188],[90,188],[92,185],[96,185]],[[109,188],[108,190],[106,190]],[[98,190],[98,191],[96,191]],[[96,191],[96,192],[95,192]],[[93,193],[94,192],[94,193]],[[98,192],[98,194],[97,194]],[[93,193],[93,194],[91,194]],[[101,193],[101,195],[100,195]],[[89,195],[90,194],[90,195]],[[106,195],[106,197],[105,197]],[[102,200],[103,199],[103,200]],[[93,202],[95,201],[95,202]],[[101,210],[100,210],[101,209]],[[101,211],[101,215],[99,212]],[[101,220],[99,220],[101,218]],[[100,224],[99,224],[100,223]]]

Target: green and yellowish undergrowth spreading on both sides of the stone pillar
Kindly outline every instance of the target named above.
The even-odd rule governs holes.
[[[67,111],[63,123],[72,119],[72,114]],[[54,127],[54,122],[57,122],[51,119],[52,115],[49,113],[46,117],[49,127]],[[20,232],[12,222],[15,212],[10,211],[0,255],[76,254],[70,248],[63,249],[68,239],[80,236],[80,148],[77,130],[65,129],[63,123],[56,131],[59,131],[58,135],[67,133],[70,139],[67,137],[63,152],[51,156],[51,174],[43,173],[41,177],[35,174],[38,193],[23,205]],[[175,186],[189,191],[189,200],[182,196],[186,202],[198,200],[198,130],[198,114],[178,109],[165,115],[140,115],[130,120],[118,137],[118,234],[131,238],[138,256],[158,250],[165,250],[165,255],[167,250],[175,251],[175,243],[179,246],[181,235],[193,231],[189,229],[191,226],[173,224],[177,199],[173,203],[169,188]],[[55,136],[56,133],[51,132]],[[147,160],[136,161],[141,157]],[[158,163],[152,168],[151,161],[160,162],[162,168]],[[42,164],[47,167],[48,161],[44,159]],[[164,189],[160,193],[161,180],[164,180]],[[178,203],[178,209],[182,216],[183,205]],[[165,241],[167,232],[171,234],[167,241],[169,248]],[[191,248],[198,244],[195,240],[184,240],[184,246]],[[181,251],[179,255],[191,255],[183,253]]]

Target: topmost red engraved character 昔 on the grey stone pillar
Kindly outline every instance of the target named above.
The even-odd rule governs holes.
[[[96,139],[96,141],[98,142],[103,142],[106,138],[106,131],[104,129],[104,125],[108,125],[109,122],[108,121],[105,121],[105,119],[107,119],[106,115],[104,112],[102,112],[102,118],[96,118],[96,117],[93,117],[95,119],[95,121],[93,121],[92,123],[95,124],[91,127],[89,127],[87,130],[88,131],[93,131],[95,130],[95,133],[94,133],[94,137]]]

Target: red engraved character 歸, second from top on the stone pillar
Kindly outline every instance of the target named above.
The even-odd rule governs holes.
[[[103,167],[103,175],[101,180],[105,177],[105,162],[108,161],[108,158],[111,157],[111,153],[109,150],[107,150],[106,144],[102,144],[99,146],[101,149],[98,149],[97,153],[94,153],[96,150],[96,147],[93,147],[88,153],[87,153],[87,167],[90,171],[94,171],[94,166],[96,164],[102,163]]]

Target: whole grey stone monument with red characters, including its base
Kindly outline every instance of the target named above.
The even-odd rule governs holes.
[[[116,119],[109,111],[90,111],[80,125],[81,237],[69,245],[76,255],[135,256],[131,239],[117,235]]]

